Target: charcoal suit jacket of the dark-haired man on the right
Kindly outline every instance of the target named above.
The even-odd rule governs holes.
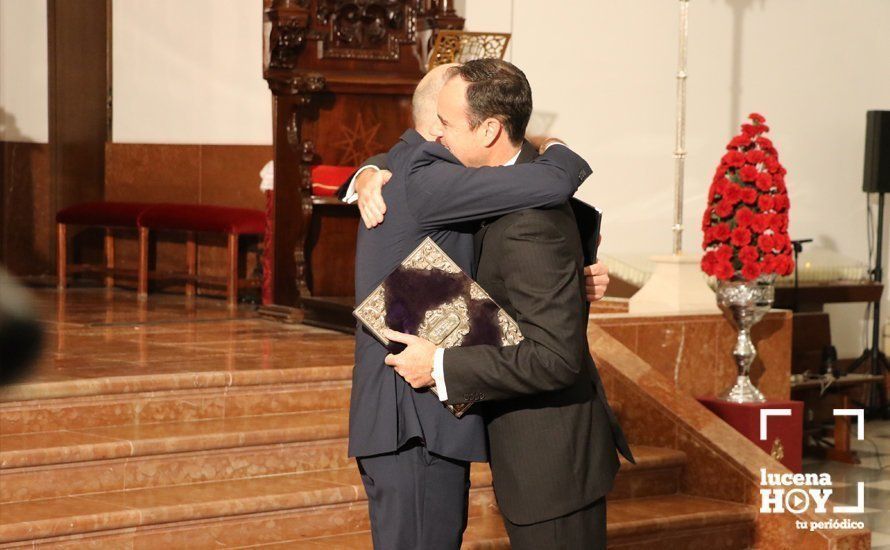
[[[526,148],[520,161],[533,155]],[[590,355],[583,255],[569,204],[485,223],[475,250],[476,280],[525,339],[445,350],[448,402],[488,401],[476,407],[484,405],[498,505],[513,523],[537,523],[608,493],[616,447],[633,456]]]

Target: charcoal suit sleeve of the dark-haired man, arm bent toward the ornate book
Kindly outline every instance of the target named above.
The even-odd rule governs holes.
[[[585,368],[577,251],[534,211],[504,231],[501,271],[524,340],[446,349],[443,371],[452,405],[560,390]]]

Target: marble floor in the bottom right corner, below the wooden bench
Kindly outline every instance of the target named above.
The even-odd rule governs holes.
[[[804,458],[803,470],[830,474],[834,490],[831,499],[838,504],[856,505],[856,482],[865,482],[864,513],[840,517],[864,522],[872,532],[872,548],[890,550],[890,420],[866,422],[865,439],[856,441],[854,437],[852,446],[860,464]]]

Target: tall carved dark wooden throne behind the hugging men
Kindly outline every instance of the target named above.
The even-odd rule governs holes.
[[[354,205],[312,195],[313,164],[356,166],[411,126],[411,95],[449,0],[265,0],[263,77],[274,96],[275,194],[265,312],[352,330]]]

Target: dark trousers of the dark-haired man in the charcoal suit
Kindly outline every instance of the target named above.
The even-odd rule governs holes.
[[[605,550],[606,497],[554,519],[516,525],[504,518],[513,550]]]

